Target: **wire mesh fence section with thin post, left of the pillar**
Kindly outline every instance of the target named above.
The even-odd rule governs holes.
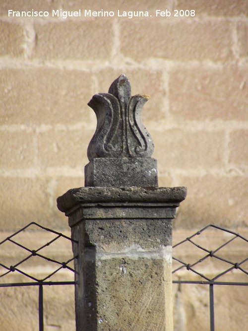
[[[49,236],[45,236],[49,238],[49,240],[41,246],[39,240],[32,240],[28,243],[27,237],[30,231],[33,232],[31,232],[31,237],[33,237],[34,233],[37,236],[37,231],[39,230],[49,233]],[[29,233],[27,231],[29,231]],[[24,236],[20,236],[22,233],[25,233]],[[5,252],[3,257],[1,256],[3,261],[0,261],[0,287],[39,286],[39,331],[44,330],[43,286],[76,284],[76,282],[72,280],[53,280],[54,276],[58,275],[62,269],[66,269],[72,274],[77,272],[73,268],[73,261],[77,256],[71,257],[66,261],[54,258],[53,252],[57,250],[55,243],[58,243],[61,239],[77,244],[75,240],[62,233],[31,222],[0,242],[0,250]],[[48,251],[47,248],[53,245],[54,250],[51,254],[51,250]],[[18,248],[18,254],[16,254],[16,247]],[[70,255],[72,255],[72,251]],[[22,257],[21,259],[20,256]],[[44,262],[46,263],[46,268],[42,267]],[[37,266],[37,264],[40,265],[42,269],[40,273],[41,278],[35,277],[37,271],[35,268],[30,267],[32,265]],[[49,267],[47,267],[48,265]],[[9,280],[11,273],[21,275],[22,281],[5,282],[5,279],[7,279],[7,281]]]

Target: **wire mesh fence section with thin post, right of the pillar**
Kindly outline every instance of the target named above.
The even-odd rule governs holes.
[[[222,243],[214,243],[216,247],[210,248],[213,245],[210,240],[211,233],[205,236],[203,240],[200,237],[209,229],[219,230],[225,235],[222,236]],[[205,244],[202,244],[202,242]],[[242,248],[236,257],[232,256],[232,246]],[[186,255],[185,252],[192,252],[188,257],[178,257],[177,248],[181,248],[181,255]],[[196,249],[195,250],[193,250]],[[190,237],[173,246],[173,283],[174,284],[205,284],[209,285],[209,307],[210,307],[210,331],[215,330],[214,322],[214,285],[248,285],[248,277],[246,281],[233,281],[233,276],[236,279],[239,275],[248,276],[248,239],[231,230],[227,230],[220,226],[209,224],[200,231],[197,231]],[[232,261],[233,258],[237,260]],[[187,259],[187,260],[186,260]],[[209,264],[211,259],[212,264]],[[214,260],[214,261],[213,261]],[[215,263],[216,262],[216,263]],[[217,267],[211,267],[216,265]],[[239,271],[234,274],[234,271]],[[188,273],[189,272],[189,273]],[[196,280],[192,279],[196,278]],[[232,275],[231,280],[228,276]],[[176,279],[178,278],[178,279]],[[244,278],[244,277],[242,277]]]

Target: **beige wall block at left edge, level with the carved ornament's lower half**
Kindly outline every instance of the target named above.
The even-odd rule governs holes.
[[[0,132],[0,168],[25,169],[35,165],[33,132]]]

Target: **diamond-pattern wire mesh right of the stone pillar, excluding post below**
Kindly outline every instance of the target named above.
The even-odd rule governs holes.
[[[226,232],[230,235],[233,235],[233,237],[230,238],[229,240],[226,240],[224,242],[224,244],[218,246],[214,250],[209,250],[209,249],[203,247],[202,245],[197,244],[196,240],[195,240],[197,236],[201,235],[204,231],[206,231],[209,228],[214,228],[214,229],[221,230],[221,231]],[[174,245],[173,249],[175,249],[176,247],[178,247],[180,245],[182,246],[185,243],[190,243],[192,245],[192,248],[196,247],[198,250],[201,250],[204,254],[203,254],[203,257],[201,257],[199,260],[194,261],[193,263],[188,263],[188,262],[182,261],[179,258],[173,257],[172,259],[179,264],[179,266],[176,267],[172,271],[173,275],[177,275],[177,274],[180,273],[180,271],[182,271],[183,269],[186,269],[186,270],[189,270],[189,271],[193,272],[194,274],[200,276],[205,281],[202,281],[202,280],[201,281],[190,281],[190,280],[188,280],[188,281],[187,280],[185,280],[185,281],[183,281],[183,280],[176,281],[176,280],[174,280],[173,282],[174,283],[176,283],[176,282],[177,283],[179,283],[179,282],[217,283],[216,279],[219,280],[222,276],[228,274],[230,271],[232,271],[234,269],[240,270],[242,273],[248,275],[248,269],[246,270],[246,268],[244,267],[246,262],[248,262],[248,257],[246,257],[242,261],[237,262],[237,261],[230,261],[229,259],[225,259],[220,254],[221,251],[228,248],[231,243],[233,243],[234,241],[237,241],[238,239],[242,240],[242,245],[246,245],[247,252],[248,252],[248,239],[246,239],[245,237],[241,236],[239,233],[236,233],[234,231],[227,230],[225,228],[222,228],[220,226],[216,226],[216,225],[213,225],[213,224],[209,224],[206,227],[204,227],[203,229],[201,229],[200,231],[197,231],[196,233],[194,233],[190,237],[188,237],[185,240],[181,241],[180,243]],[[219,260],[221,262],[224,262],[228,265],[228,267],[225,270],[223,270],[222,272],[217,273],[217,275],[214,275],[211,278],[208,275],[197,271],[196,270],[197,266],[199,266],[202,262],[204,262],[206,259],[209,259],[209,258],[210,259],[216,259],[216,260]],[[233,283],[233,284],[235,284],[235,283]],[[239,283],[237,283],[237,284],[239,284]],[[242,283],[240,283],[240,284],[242,284]]]

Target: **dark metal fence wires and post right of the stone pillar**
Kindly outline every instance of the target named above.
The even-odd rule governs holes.
[[[221,230],[223,233],[230,234],[231,238],[226,240],[221,246],[218,246],[214,250],[209,250],[207,248],[204,248],[202,245],[197,243],[197,241],[198,241],[197,237],[209,228],[218,229],[218,230]],[[228,252],[228,249],[229,249],[231,243],[234,241],[237,241],[237,240],[242,241],[240,243],[240,245],[242,245],[242,246],[246,245],[246,247],[247,247],[246,258],[243,259],[242,261],[230,261],[230,260],[224,258],[223,256],[227,255],[226,253]],[[207,242],[210,242],[210,241],[207,240]],[[176,262],[177,267],[172,271],[172,273],[174,276],[177,275],[179,277],[179,279],[173,280],[173,283],[209,285],[210,331],[214,331],[214,285],[241,285],[241,286],[248,285],[248,282],[222,281],[224,276],[226,276],[227,274],[230,274],[231,271],[235,270],[235,269],[239,270],[242,274],[248,275],[248,269],[247,270],[245,269],[245,267],[246,267],[245,263],[248,261],[248,253],[247,253],[248,252],[248,239],[246,239],[245,237],[241,236],[240,234],[238,234],[234,231],[227,230],[225,228],[222,228],[220,226],[216,226],[213,224],[209,224],[206,227],[204,227],[203,229],[201,229],[200,231],[197,231],[190,237],[188,237],[185,240],[181,241],[180,243],[174,245],[173,246],[173,249],[174,249],[173,255],[175,254],[176,247],[179,247],[179,246],[183,247],[183,245],[185,245],[186,243],[193,245],[192,248],[195,247],[196,249],[203,252],[203,256],[191,264],[188,262],[182,261],[181,259],[174,256],[172,259],[174,260],[174,262]],[[190,245],[187,246],[187,249],[189,249],[189,250],[190,250]],[[225,251],[225,254],[222,254],[223,251]],[[213,277],[209,277],[209,273],[204,274],[199,271],[199,270],[201,270],[201,268],[199,268],[200,264],[202,264],[202,262],[204,262],[207,259],[216,259],[218,261],[223,262],[224,265],[227,264],[227,266],[226,267],[224,266],[223,270],[221,270],[221,272],[219,272],[219,273],[217,272],[217,274],[215,274]],[[199,280],[182,280],[182,279],[180,279],[182,277],[182,271],[184,271],[184,270],[188,270],[189,272],[191,272],[191,274],[193,273],[194,275],[196,275],[199,278]],[[247,281],[248,281],[248,279],[247,279]]]

